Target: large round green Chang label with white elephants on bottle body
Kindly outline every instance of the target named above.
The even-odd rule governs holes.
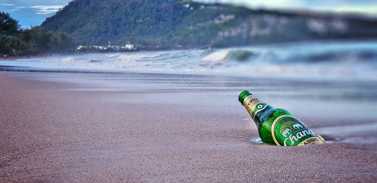
[[[291,115],[277,117],[271,127],[276,145],[299,146],[323,143],[308,127]]]

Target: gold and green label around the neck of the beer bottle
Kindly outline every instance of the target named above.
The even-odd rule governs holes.
[[[264,110],[272,108],[270,105],[255,98],[253,95],[245,97],[242,104],[245,106],[256,125],[258,125],[259,118],[264,113]]]

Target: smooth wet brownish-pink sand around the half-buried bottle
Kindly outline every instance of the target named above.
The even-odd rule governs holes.
[[[239,91],[213,89],[210,79],[204,88],[169,88],[163,83],[195,79],[95,77],[0,72],[0,182],[377,181],[375,143],[260,145]],[[375,122],[305,114],[296,116],[314,129]]]

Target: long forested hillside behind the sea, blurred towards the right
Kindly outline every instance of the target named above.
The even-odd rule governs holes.
[[[42,27],[79,44],[237,46],[318,38],[377,37],[377,21],[254,11],[179,0],[75,0]]]

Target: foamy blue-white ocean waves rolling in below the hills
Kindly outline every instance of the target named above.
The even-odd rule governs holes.
[[[375,79],[377,41],[303,41],[208,50],[90,53],[2,61],[41,70]]]

